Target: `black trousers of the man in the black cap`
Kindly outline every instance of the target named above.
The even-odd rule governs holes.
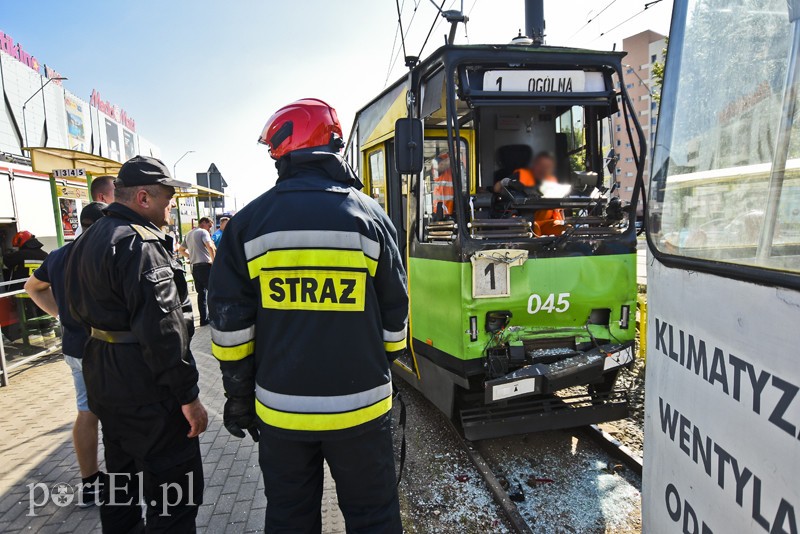
[[[189,423],[178,402],[94,409],[109,474],[100,506],[103,532],[195,532],[203,462],[199,439],[186,437]],[[147,505],[146,527],[140,501]]]

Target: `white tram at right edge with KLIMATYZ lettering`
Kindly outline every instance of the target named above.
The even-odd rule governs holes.
[[[798,532],[798,17],[797,0],[673,8],[648,190],[645,532]]]

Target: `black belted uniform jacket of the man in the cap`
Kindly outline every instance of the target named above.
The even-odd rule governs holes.
[[[172,238],[122,204],[107,213],[75,242],[65,276],[72,316],[107,336],[93,333],[83,353],[89,406],[188,404],[194,324]]]

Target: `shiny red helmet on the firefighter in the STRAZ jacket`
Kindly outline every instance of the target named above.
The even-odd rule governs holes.
[[[302,148],[325,146],[338,150],[344,144],[336,110],[316,98],[304,98],[276,111],[258,142],[269,147],[272,159]]]

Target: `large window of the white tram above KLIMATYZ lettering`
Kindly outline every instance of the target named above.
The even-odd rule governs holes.
[[[748,4],[745,33],[740,9],[693,3],[676,32],[685,37],[670,41],[679,61],[665,76],[651,238],[677,256],[800,272],[800,124],[780,127],[792,33],[786,2]]]

